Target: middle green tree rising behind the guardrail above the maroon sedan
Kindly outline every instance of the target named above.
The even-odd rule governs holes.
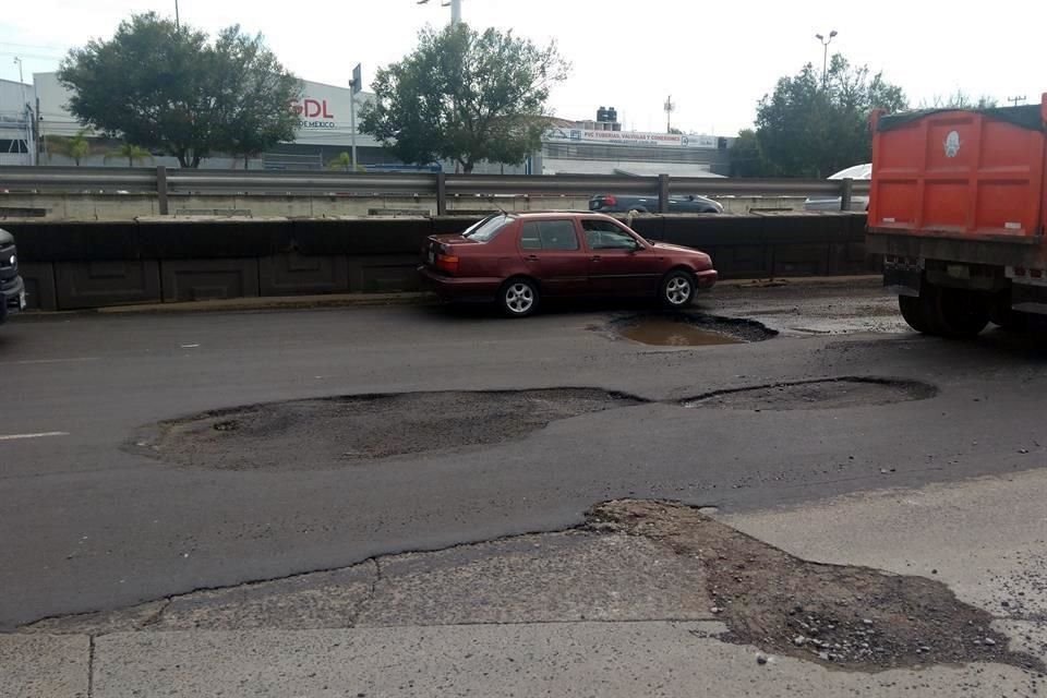
[[[405,163],[446,158],[465,172],[521,163],[540,146],[550,87],[567,71],[555,45],[512,32],[425,29],[414,52],[378,70],[360,130]]]

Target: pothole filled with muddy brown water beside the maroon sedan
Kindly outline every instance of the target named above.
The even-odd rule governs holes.
[[[738,345],[778,335],[755,321],[694,313],[630,315],[612,321],[611,328],[621,337],[655,347]]]

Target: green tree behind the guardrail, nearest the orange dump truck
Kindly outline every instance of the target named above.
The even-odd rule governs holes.
[[[756,140],[766,172],[821,178],[868,163],[870,112],[900,111],[906,105],[901,87],[888,83],[882,73],[852,67],[839,53],[832,57],[825,83],[808,63],[796,75],[779,80],[757,107]]]

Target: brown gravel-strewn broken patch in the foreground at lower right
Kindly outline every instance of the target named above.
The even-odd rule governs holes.
[[[965,662],[1045,671],[1009,649],[990,613],[934,579],[801,559],[674,503],[609,502],[588,520],[701,559],[725,641],[865,671]]]

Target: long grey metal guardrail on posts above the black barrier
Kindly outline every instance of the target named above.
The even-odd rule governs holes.
[[[447,174],[445,172],[284,172],[266,170],[192,170],[108,167],[0,167],[0,192],[147,192],[168,214],[168,196],[208,192],[241,194],[418,194],[436,196],[438,215],[454,195],[637,194],[657,196],[659,213],[669,213],[670,197],[840,196],[847,210],[854,194],[868,192],[867,181],[806,179],[720,179],[705,177],[624,177],[602,174]]]

